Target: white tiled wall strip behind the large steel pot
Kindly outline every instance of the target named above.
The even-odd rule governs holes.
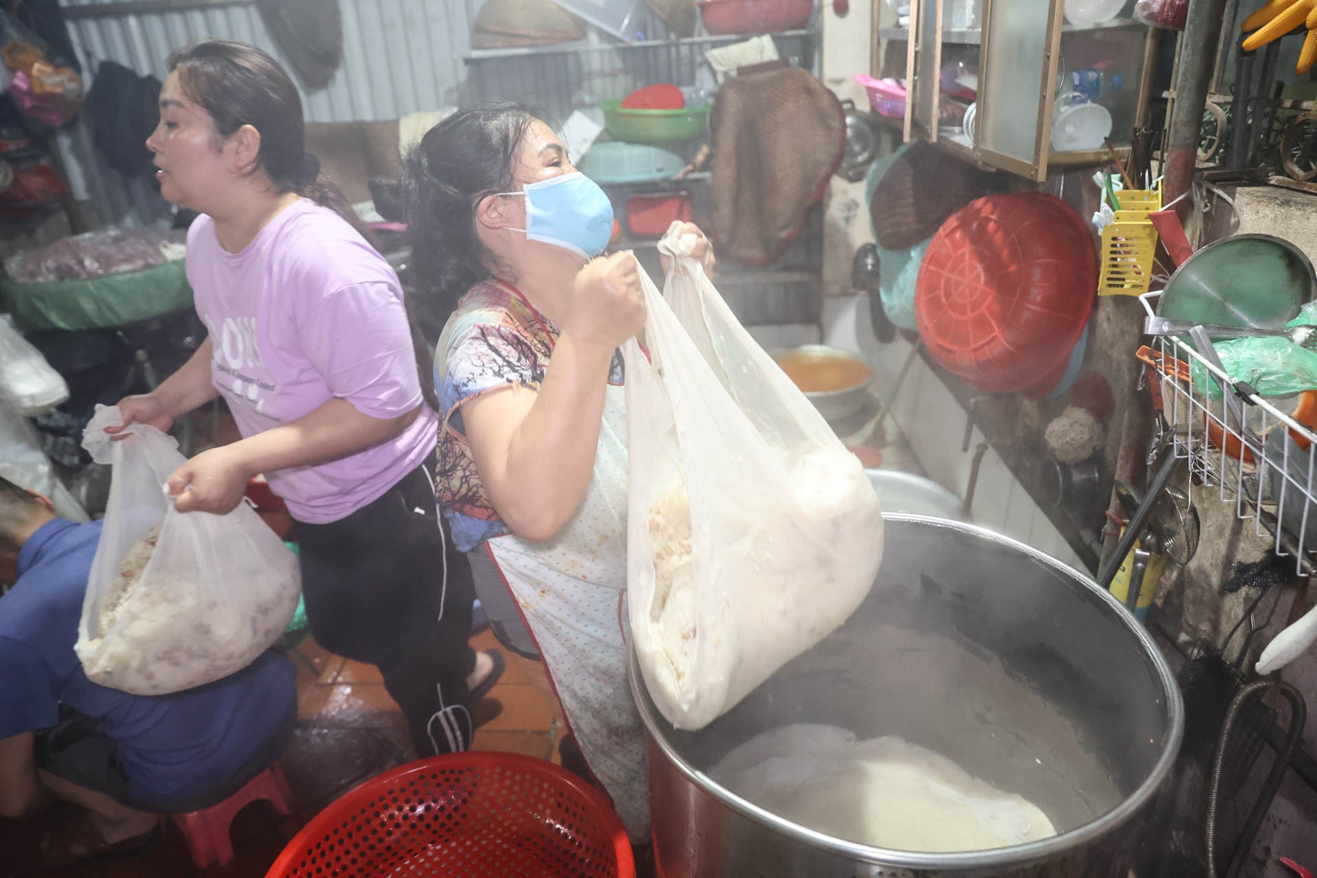
[[[868,296],[824,299],[823,344],[864,354],[873,367],[878,395],[884,399],[889,398],[892,386],[913,350],[901,337],[886,345],[878,344],[869,323]],[[975,449],[984,437],[975,428],[969,437],[969,450],[961,452],[965,411],[921,357],[915,357],[898,388],[893,416],[928,478],[963,498],[969,486]],[[976,524],[1083,569],[1065,537],[993,449],[988,449],[980,465],[971,516]]]

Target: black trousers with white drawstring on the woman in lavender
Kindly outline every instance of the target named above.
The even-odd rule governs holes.
[[[470,749],[475,592],[428,465],[348,517],[299,521],[296,533],[307,621],[320,645],[379,667],[419,756]]]

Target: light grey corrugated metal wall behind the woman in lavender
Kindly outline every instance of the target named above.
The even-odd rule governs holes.
[[[252,43],[287,62],[252,0],[61,0],[61,5],[88,72],[101,61],[116,61],[163,79],[170,51],[207,37]],[[462,57],[477,5],[478,0],[338,0],[342,62],[325,88],[303,91],[307,121],[398,118],[453,103],[465,78]],[[111,12],[116,7],[159,11]]]

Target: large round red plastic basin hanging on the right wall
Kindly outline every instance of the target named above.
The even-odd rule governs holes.
[[[1097,276],[1092,234],[1068,204],[989,195],[928,245],[915,283],[919,336],[979,390],[1055,387],[1093,311]]]

